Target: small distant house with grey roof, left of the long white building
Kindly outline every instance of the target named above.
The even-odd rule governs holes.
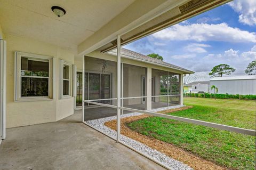
[[[193,82],[183,85],[183,92],[187,93],[198,93],[198,92],[209,92],[209,81],[206,82]]]

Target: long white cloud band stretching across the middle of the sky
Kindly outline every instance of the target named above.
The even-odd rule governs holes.
[[[207,24],[194,23],[191,25],[174,25],[153,34],[153,37],[168,41],[222,41],[222,42],[253,42],[256,43],[256,33],[232,28],[227,23]]]

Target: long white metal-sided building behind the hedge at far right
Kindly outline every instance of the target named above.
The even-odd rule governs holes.
[[[253,94],[256,95],[256,76],[214,77],[210,80],[210,87],[218,88],[219,94]],[[213,90],[210,91],[214,93]]]

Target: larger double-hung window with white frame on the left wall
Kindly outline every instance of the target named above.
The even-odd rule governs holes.
[[[15,101],[52,98],[51,56],[15,52]]]

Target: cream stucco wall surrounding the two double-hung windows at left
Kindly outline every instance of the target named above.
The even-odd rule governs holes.
[[[5,35],[7,43],[6,127],[55,122],[74,113],[73,98],[59,100],[59,59],[74,64],[74,54],[49,43]],[[55,59],[54,99],[14,102],[14,51],[53,56]]]

